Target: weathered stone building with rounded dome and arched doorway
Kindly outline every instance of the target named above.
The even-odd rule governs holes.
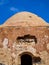
[[[0,65],[49,65],[49,24],[20,12],[0,25]]]

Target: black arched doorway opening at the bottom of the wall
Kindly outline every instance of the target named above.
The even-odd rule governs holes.
[[[28,54],[21,56],[21,65],[32,65],[32,57]]]

